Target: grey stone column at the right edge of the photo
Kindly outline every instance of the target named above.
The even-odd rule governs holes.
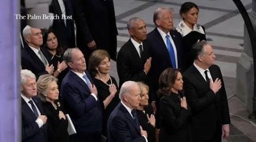
[[[249,12],[249,17],[253,24],[254,31],[256,31],[256,0],[252,1],[252,11]],[[247,110],[252,112],[254,95],[253,51],[251,49],[250,37],[246,26],[244,26],[243,48],[243,53],[237,61],[237,97],[245,103]]]

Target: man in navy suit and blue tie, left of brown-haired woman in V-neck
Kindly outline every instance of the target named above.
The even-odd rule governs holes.
[[[86,70],[84,55],[79,48],[68,48],[63,60],[71,70],[61,83],[60,94],[76,128],[73,141],[98,142],[101,138],[102,114],[97,88]]]

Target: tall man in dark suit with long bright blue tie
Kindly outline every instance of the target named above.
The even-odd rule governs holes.
[[[147,39],[151,44],[152,62],[148,77],[152,82],[149,95],[152,98],[151,105],[156,111],[156,91],[158,90],[158,79],[164,69],[182,68],[181,61],[181,40],[182,36],[176,30],[172,30],[174,23],[172,20],[172,11],[166,7],[160,7],[154,12],[154,23],[156,28],[147,34]],[[175,65],[174,65],[175,64]],[[156,118],[158,115],[156,115]],[[157,123],[156,123],[157,124]]]

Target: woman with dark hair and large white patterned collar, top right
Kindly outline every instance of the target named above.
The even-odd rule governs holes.
[[[181,21],[177,25],[176,30],[180,32],[183,37],[183,48],[185,58],[185,65],[183,71],[193,64],[193,57],[191,55],[192,46],[202,40],[206,40],[205,28],[197,24],[199,8],[193,2],[185,2],[180,7]]]

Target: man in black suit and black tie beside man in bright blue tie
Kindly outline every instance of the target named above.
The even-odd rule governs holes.
[[[151,67],[150,45],[146,24],[142,19],[131,18],[127,23],[131,38],[121,47],[117,56],[119,86],[125,81],[148,82],[147,73]]]

